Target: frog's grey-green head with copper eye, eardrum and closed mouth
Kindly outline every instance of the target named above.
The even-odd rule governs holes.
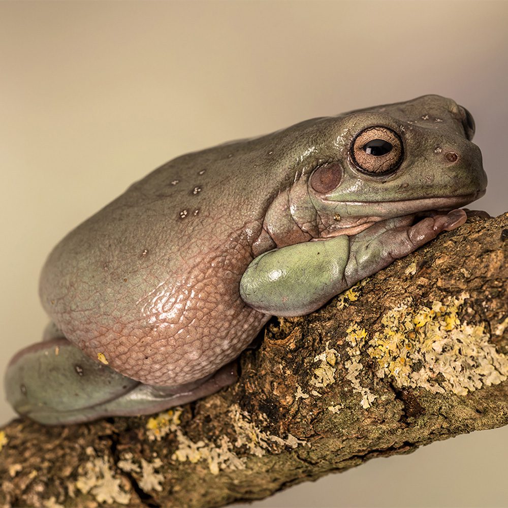
[[[454,101],[424,96],[337,118],[332,160],[309,194],[325,235],[389,217],[451,210],[485,194],[474,121]],[[335,133],[334,133],[335,136]]]

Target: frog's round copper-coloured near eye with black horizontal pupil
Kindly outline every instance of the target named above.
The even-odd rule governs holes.
[[[351,145],[353,162],[363,173],[386,175],[402,162],[404,149],[399,135],[381,125],[360,132]]]

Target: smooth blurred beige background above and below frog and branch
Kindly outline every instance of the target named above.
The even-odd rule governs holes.
[[[41,336],[56,241],[186,151],[439,93],[477,121],[477,207],[503,212],[507,19],[486,1],[0,3],[0,373]],[[475,433],[253,506],[508,506],[506,457],[508,428]]]

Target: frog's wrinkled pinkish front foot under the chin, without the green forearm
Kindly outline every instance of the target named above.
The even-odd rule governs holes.
[[[407,256],[442,231],[458,228],[467,219],[464,210],[432,212],[430,215],[414,225],[410,215],[383,220],[352,237],[344,271],[347,287]]]

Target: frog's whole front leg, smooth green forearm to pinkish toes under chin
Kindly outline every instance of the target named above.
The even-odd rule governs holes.
[[[385,219],[361,233],[289,245],[255,258],[240,281],[245,303],[267,314],[304,315],[466,220],[463,210]]]

